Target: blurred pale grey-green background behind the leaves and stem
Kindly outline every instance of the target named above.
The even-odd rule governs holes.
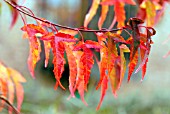
[[[27,68],[29,45],[27,39],[22,38],[20,30],[23,23],[19,18],[14,28],[9,30],[11,21],[9,7],[4,2],[1,3],[0,61],[21,72],[27,80],[27,83],[23,84],[25,90],[21,111],[23,114],[170,114],[170,56],[163,58],[170,50],[170,5],[166,5],[162,19],[155,26],[157,34],[153,37],[154,44],[145,80],[140,82],[140,72],[132,76],[130,83],[124,80],[117,98],[113,97],[109,87],[100,110],[96,111],[100,99],[100,90],[95,90],[99,80],[97,65],[93,67],[88,92],[85,94],[87,107],[81,102],[78,93],[76,98],[67,100],[70,95],[67,64],[61,79],[67,90],[53,89],[55,78],[52,72],[52,54],[47,68],[44,68],[44,54],[41,54],[41,61],[35,70],[36,79],[32,79]],[[26,0],[23,5],[30,8],[36,16],[54,23],[81,27],[91,3],[92,0]],[[135,14],[136,6],[126,5],[127,18]],[[99,15],[98,10],[90,23],[90,28],[97,29]],[[113,16],[113,12],[110,11],[104,27],[109,27]],[[28,18],[28,21],[35,23],[31,18]],[[85,39],[96,39],[93,34],[83,35]],[[7,111],[3,110],[1,113],[6,114]]]

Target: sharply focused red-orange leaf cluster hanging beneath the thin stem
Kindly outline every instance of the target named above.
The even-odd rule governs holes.
[[[84,92],[87,91],[87,84],[94,64],[93,56],[95,54],[91,49],[95,49],[95,51],[100,53],[100,60],[96,58],[100,72],[100,81],[96,89],[101,87],[101,99],[97,107],[98,110],[106,94],[108,81],[111,83],[115,96],[116,91],[121,86],[126,71],[124,52],[130,52],[128,81],[138,63],[138,49],[140,49],[141,64],[137,70],[142,69],[142,79],[144,78],[152,44],[151,36],[155,34],[155,31],[151,27],[144,27],[147,32],[146,34],[141,33],[139,24],[142,23],[143,21],[137,18],[131,18],[129,20],[129,25],[124,27],[124,29],[132,31],[131,37],[128,40],[125,40],[118,33],[96,32],[98,42],[92,40],[84,41],[83,38],[81,40],[75,38],[75,35],[78,34],[78,32],[80,33],[79,30],[77,30],[78,32],[71,30],[58,31],[55,26],[40,21],[37,21],[37,24],[25,24],[21,30],[25,32],[24,37],[28,38],[30,44],[28,58],[30,73],[33,78],[35,78],[34,69],[36,63],[40,60],[41,40],[45,48],[45,67],[48,65],[50,50],[52,50],[53,53],[53,72],[56,78],[54,88],[57,89],[57,87],[60,86],[65,90],[60,79],[64,71],[64,52],[66,52],[70,69],[69,90],[71,97],[75,97],[74,92],[78,90],[81,100],[87,105],[84,99]],[[130,49],[127,45],[130,45]]]

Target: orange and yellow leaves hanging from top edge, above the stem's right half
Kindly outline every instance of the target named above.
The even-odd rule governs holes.
[[[87,27],[89,22],[95,16],[99,6],[101,5],[101,15],[98,21],[98,28],[102,29],[102,25],[106,20],[109,12],[109,6],[114,6],[114,19],[109,29],[113,28],[117,22],[117,28],[125,26],[126,12],[125,4],[138,5],[137,18],[146,20],[147,26],[155,25],[163,15],[165,4],[169,0],[93,0],[89,12],[84,21],[84,27]]]

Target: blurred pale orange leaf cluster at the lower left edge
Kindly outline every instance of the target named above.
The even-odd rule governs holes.
[[[10,114],[13,111],[16,113],[20,112],[24,98],[24,90],[21,83],[24,82],[26,82],[25,78],[18,71],[7,67],[0,62],[0,111],[3,109],[5,104],[8,104]],[[15,98],[15,92],[17,98],[17,109],[19,112],[12,106]]]

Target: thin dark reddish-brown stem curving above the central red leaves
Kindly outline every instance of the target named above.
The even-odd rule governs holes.
[[[4,0],[7,4],[9,4],[10,6],[12,6],[14,9],[18,10],[19,12],[29,16],[29,17],[32,17],[36,20],[39,20],[41,22],[44,22],[44,23],[47,23],[47,24],[50,24],[52,26],[57,26],[57,27],[60,27],[60,28],[65,28],[65,29],[70,29],[70,30],[74,30],[74,31],[81,31],[81,32],[116,32],[116,31],[119,31],[119,30],[123,30],[123,28],[118,28],[118,29],[111,29],[111,30],[108,30],[108,29],[104,29],[104,30],[93,30],[93,29],[84,29],[84,28],[72,28],[72,27],[68,27],[68,26],[63,26],[63,25],[60,25],[60,24],[55,24],[55,23],[52,23],[48,20],[43,20],[39,17],[36,17],[24,10],[22,10],[20,7],[18,7],[16,4],[13,4],[12,2],[8,1],[8,0]]]

